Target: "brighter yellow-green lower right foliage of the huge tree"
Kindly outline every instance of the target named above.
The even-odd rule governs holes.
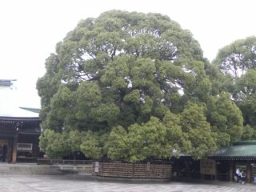
[[[202,107],[192,103],[181,116],[168,111],[163,121],[150,118],[145,124],[129,126],[127,131],[122,126],[115,127],[107,147],[110,158],[130,162],[179,157],[181,154],[205,158],[217,149]]]

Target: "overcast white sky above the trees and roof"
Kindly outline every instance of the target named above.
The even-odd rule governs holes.
[[[168,15],[194,34],[211,61],[223,46],[256,35],[255,8],[254,0],[2,0],[0,79],[18,80],[20,106],[39,107],[35,84],[56,43],[79,20],[113,9]]]

